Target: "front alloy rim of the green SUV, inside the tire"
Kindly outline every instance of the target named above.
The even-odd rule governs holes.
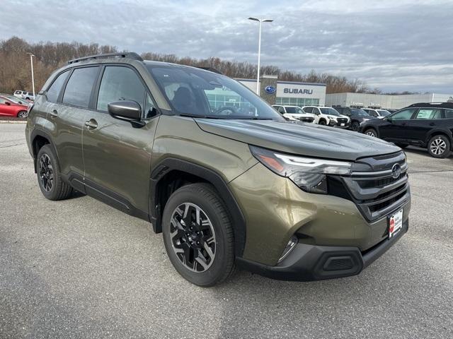
[[[195,273],[210,268],[216,253],[215,233],[200,206],[180,204],[173,211],[170,224],[171,246],[185,268]]]

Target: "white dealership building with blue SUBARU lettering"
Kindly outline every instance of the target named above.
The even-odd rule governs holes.
[[[256,91],[256,80],[236,79],[247,88]],[[326,104],[326,84],[325,83],[297,83],[293,81],[278,81],[277,76],[263,76],[260,78],[261,96],[273,95],[271,104],[306,106],[323,106]],[[270,85],[268,85],[270,84]],[[276,84],[276,85],[275,85]],[[266,88],[275,90],[275,93],[266,91]],[[266,93],[267,92],[267,93]],[[266,99],[266,98],[265,98]]]

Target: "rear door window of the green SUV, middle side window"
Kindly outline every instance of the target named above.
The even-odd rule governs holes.
[[[74,69],[64,90],[62,102],[84,108],[88,107],[98,69],[98,67]]]

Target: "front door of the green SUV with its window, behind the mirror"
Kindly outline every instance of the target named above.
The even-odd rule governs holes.
[[[108,103],[134,100],[142,107],[145,126],[108,114]],[[105,66],[83,132],[87,194],[126,213],[149,213],[151,148],[159,117],[137,71],[128,66]]]

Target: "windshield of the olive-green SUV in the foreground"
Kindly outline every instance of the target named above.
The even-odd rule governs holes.
[[[147,67],[173,111],[181,115],[286,121],[255,93],[226,76],[190,67]]]

